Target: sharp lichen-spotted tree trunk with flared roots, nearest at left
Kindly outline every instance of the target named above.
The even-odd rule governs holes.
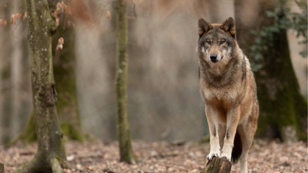
[[[56,112],[51,54],[55,23],[46,0],[26,0],[26,4],[37,152],[14,172],[63,172],[61,166],[67,166],[66,152]]]

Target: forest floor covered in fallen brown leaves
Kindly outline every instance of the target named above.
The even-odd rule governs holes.
[[[134,141],[139,163],[119,163],[117,142],[66,142],[67,159],[74,169],[65,172],[200,172],[206,165],[209,144],[200,142]],[[307,172],[307,143],[280,143],[256,139],[248,154],[248,172]],[[10,172],[31,160],[36,144],[0,146],[0,162]],[[231,172],[240,172],[240,163]]]

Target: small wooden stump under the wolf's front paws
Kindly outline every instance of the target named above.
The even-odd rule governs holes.
[[[214,157],[211,161],[208,161],[206,166],[200,173],[225,173],[230,172],[232,163],[227,159]]]

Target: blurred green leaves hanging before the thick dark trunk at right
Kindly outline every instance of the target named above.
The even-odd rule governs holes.
[[[281,0],[277,4],[274,11],[265,11],[268,18],[273,18],[274,23],[270,26],[263,26],[260,31],[251,30],[251,33],[256,36],[255,44],[250,47],[251,55],[254,57],[252,67],[254,71],[262,68],[260,60],[263,59],[262,53],[272,48],[274,34],[293,29],[297,32],[296,36],[303,36],[304,40],[299,44],[307,45],[307,1],[294,0],[301,13],[292,13],[290,8],[286,6],[287,0]],[[302,57],[307,56],[307,49],[299,52]]]

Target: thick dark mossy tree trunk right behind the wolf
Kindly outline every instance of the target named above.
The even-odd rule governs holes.
[[[249,26],[254,28],[253,32],[241,23],[246,16],[237,13],[249,2],[236,1],[236,17],[240,45],[243,45],[244,52],[250,52],[255,68],[260,102],[258,136],[292,142],[307,138],[307,101],[299,92],[292,67],[286,36],[290,24],[286,2],[258,1],[258,17]],[[255,3],[251,5],[256,7]],[[254,45],[249,44],[252,40],[255,40]]]

